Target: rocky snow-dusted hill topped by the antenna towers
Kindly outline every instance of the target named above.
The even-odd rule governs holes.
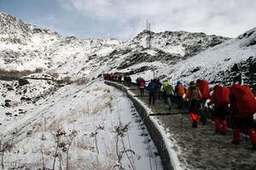
[[[149,36],[152,48],[148,49],[146,39]],[[226,37],[207,36],[204,33],[190,33],[186,31],[166,31],[154,33],[143,31],[137,37],[124,42],[108,57],[108,71],[121,71],[133,65],[145,62],[145,65],[154,65],[154,61],[162,64],[175,65],[178,60],[192,57],[201,51],[228,40]],[[119,65],[113,65],[119,63]],[[154,65],[157,66],[157,65]],[[110,68],[109,68],[110,67]],[[135,72],[147,71],[149,67]]]

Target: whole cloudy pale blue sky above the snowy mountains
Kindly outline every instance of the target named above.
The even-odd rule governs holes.
[[[63,36],[127,40],[151,30],[237,37],[256,27],[256,0],[0,0],[0,12]]]

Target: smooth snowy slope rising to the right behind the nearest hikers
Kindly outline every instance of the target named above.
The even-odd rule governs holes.
[[[240,36],[208,48],[192,58],[181,60],[172,68],[161,68],[158,74],[165,74],[173,85],[177,81],[189,84],[197,79],[206,79],[212,87],[217,83],[230,86],[242,81],[255,93],[256,46],[251,42],[256,39],[256,28],[245,34],[248,33],[251,37]]]

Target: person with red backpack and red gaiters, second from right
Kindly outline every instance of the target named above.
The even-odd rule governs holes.
[[[214,103],[214,115],[215,115],[215,133],[226,134],[227,131],[227,107],[230,104],[230,89],[216,85],[212,94],[211,101],[207,105]],[[221,120],[221,125],[220,125]]]

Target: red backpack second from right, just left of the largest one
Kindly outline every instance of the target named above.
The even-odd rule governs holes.
[[[219,86],[216,93],[218,106],[225,106],[230,104],[230,88]]]

